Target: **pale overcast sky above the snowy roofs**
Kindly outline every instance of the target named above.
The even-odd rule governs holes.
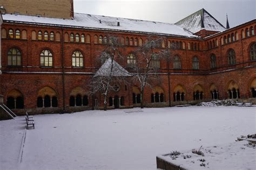
[[[180,19],[204,8],[221,24],[226,26],[226,13],[230,27],[256,18],[255,0],[73,0],[74,10],[112,17],[123,17],[176,23]]]

